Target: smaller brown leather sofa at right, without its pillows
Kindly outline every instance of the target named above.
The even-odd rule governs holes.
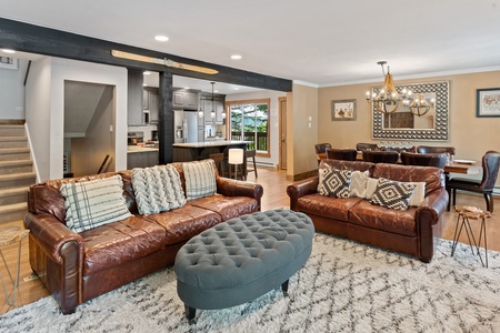
[[[386,163],[323,160],[340,170],[368,171],[370,178],[401,182],[426,182],[424,201],[418,208],[392,210],[360,198],[331,198],[317,191],[319,178],[296,182],[287,188],[290,209],[309,215],[317,231],[361,243],[407,253],[430,262],[434,241],[441,235],[448,192],[442,170]]]

